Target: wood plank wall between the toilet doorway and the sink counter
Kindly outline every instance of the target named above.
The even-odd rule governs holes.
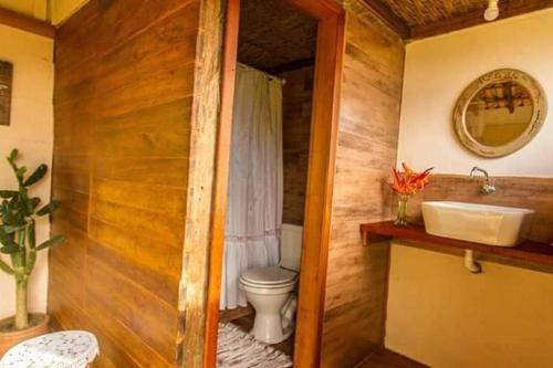
[[[353,367],[383,344],[389,246],[364,248],[359,223],[392,217],[405,46],[356,1],[346,50],[326,276],[322,366]]]

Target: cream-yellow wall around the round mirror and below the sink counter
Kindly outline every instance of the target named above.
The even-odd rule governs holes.
[[[553,177],[553,108],[518,153],[479,158],[457,140],[451,112],[481,74],[513,67],[533,75],[553,102],[553,10],[407,45],[398,162],[468,175]],[[438,368],[549,368],[553,364],[553,274],[483,263],[473,275],[458,256],[392,246],[386,346]]]

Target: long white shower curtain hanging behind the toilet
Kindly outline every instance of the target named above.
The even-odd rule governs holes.
[[[247,306],[243,271],[275,265],[282,227],[282,82],[239,64],[220,308]]]

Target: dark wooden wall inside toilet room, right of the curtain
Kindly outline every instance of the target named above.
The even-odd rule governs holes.
[[[282,87],[282,221],[302,227],[307,183],[313,72],[313,66],[305,66],[280,74],[286,81]]]

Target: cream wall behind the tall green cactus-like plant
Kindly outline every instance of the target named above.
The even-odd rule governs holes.
[[[53,146],[53,40],[0,25],[0,60],[13,63],[11,125],[0,126],[0,188],[15,188],[4,157],[12,148],[21,151],[20,162],[29,169],[44,162],[51,167]],[[50,175],[34,194],[50,200]],[[48,238],[48,219],[38,224],[38,241]],[[46,253],[40,254],[30,286],[30,309],[46,308]],[[14,284],[0,272],[0,318],[14,312]]]

